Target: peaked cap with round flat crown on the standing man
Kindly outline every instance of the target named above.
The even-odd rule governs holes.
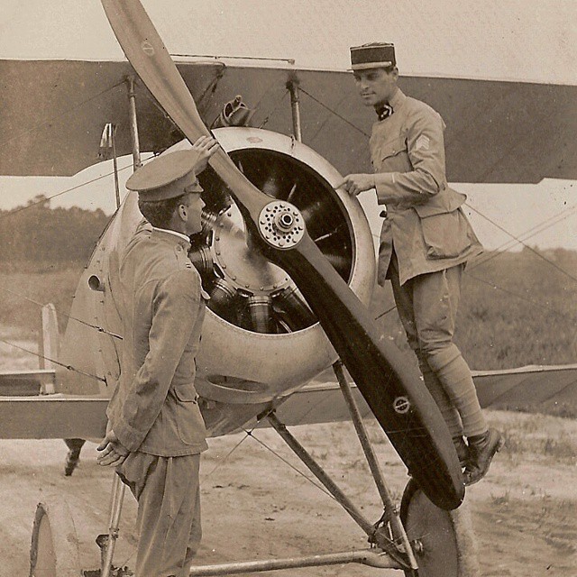
[[[180,197],[197,181],[197,151],[174,151],[161,154],[144,164],[126,181],[126,188],[138,192],[143,200],[168,200]]]

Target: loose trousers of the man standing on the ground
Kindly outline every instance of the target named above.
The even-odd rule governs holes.
[[[200,543],[200,455],[131,453],[117,469],[138,500],[137,577],[185,577]]]

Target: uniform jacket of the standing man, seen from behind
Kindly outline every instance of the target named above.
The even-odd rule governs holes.
[[[121,261],[121,374],[107,415],[130,451],[168,457],[206,449],[194,386],[205,301],[189,246],[141,225]]]

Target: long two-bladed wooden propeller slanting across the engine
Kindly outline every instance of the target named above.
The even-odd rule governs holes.
[[[126,57],[174,123],[191,142],[208,134],[188,87],[140,2],[102,0],[102,4]],[[210,165],[230,188],[254,243],[289,273],[307,298],[409,473],[435,505],[457,508],[464,498],[461,467],[443,417],[417,373],[394,345],[383,340],[367,309],[307,232],[291,228],[289,221],[299,218],[297,209],[279,210],[282,201],[271,201],[252,186],[222,149]],[[265,207],[270,212],[264,212]],[[279,225],[276,232],[261,232],[261,212],[269,226]],[[298,222],[303,222],[302,217]],[[292,236],[283,236],[289,229]]]

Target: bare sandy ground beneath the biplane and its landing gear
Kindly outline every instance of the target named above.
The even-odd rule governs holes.
[[[577,423],[505,412],[489,415],[491,423],[505,431],[508,449],[499,454],[490,477],[468,490],[482,574],[574,577]],[[369,426],[390,488],[400,499],[407,481],[405,468],[379,427]],[[376,521],[380,501],[352,426],[298,426],[293,432],[363,513]],[[361,529],[302,474],[304,467],[274,431],[255,431],[253,437],[229,435],[210,441],[201,472],[204,538],[198,563],[367,546]],[[36,504],[58,496],[66,499],[72,511],[82,568],[97,567],[94,539],[106,530],[112,473],[96,464],[95,447],[85,446],[78,470],[66,478],[66,448],[61,441],[0,441],[1,577],[28,575]],[[127,494],[117,565],[133,565],[135,511],[133,497]],[[389,577],[401,573],[348,564],[260,574]]]

